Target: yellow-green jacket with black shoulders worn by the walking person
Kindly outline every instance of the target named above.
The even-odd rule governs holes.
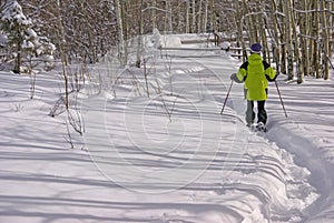
[[[264,101],[267,99],[267,81],[275,81],[276,71],[258,53],[252,53],[240,65],[236,77],[245,82],[247,100]]]

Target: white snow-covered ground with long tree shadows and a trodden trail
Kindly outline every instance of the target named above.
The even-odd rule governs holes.
[[[288,118],[271,83],[269,131],[255,134],[242,84],[219,114],[240,61],[149,53],[147,87],[138,69],[90,68],[77,149],[65,140],[66,113],[48,115],[63,91],[59,73],[38,73],[30,100],[28,77],[0,71],[1,223],[334,221],[332,80],[281,75]]]

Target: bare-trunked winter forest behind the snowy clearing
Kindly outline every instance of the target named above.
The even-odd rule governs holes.
[[[3,18],[17,4],[29,22]],[[16,72],[27,61],[31,67],[38,53],[21,45],[29,38],[27,30],[33,30],[55,44],[49,51],[65,67],[72,61],[96,63],[107,53],[126,65],[127,49],[134,41],[138,43],[136,65],[140,67],[143,38],[138,37],[157,29],[161,33],[207,33],[207,40],[217,45],[230,42],[243,60],[249,42],[261,42],[264,59],[288,80],[296,78],[302,83],[305,75],[330,78],[333,7],[332,0],[1,0],[0,33],[12,33],[12,38],[2,41],[0,61],[14,61]]]

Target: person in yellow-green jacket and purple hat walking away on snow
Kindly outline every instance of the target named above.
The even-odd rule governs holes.
[[[247,99],[246,122],[250,126],[255,120],[254,101],[257,101],[257,124],[265,126],[267,112],[265,102],[268,94],[267,81],[275,81],[276,71],[261,57],[262,45],[250,45],[250,55],[244,62],[237,73],[230,75],[230,80],[238,83],[244,82],[245,98]]]

